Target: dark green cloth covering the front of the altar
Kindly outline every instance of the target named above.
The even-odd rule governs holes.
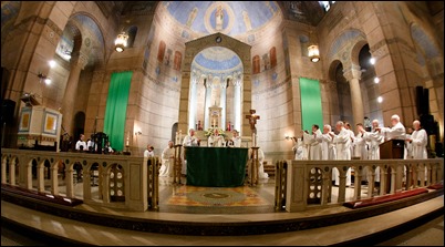
[[[187,185],[237,187],[245,183],[248,148],[187,146],[185,158]]]

